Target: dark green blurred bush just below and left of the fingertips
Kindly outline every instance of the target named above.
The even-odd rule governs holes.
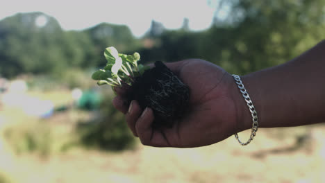
[[[124,121],[124,116],[111,104],[112,94],[101,103],[99,119],[79,123],[81,142],[89,148],[125,150],[134,148],[135,139]]]

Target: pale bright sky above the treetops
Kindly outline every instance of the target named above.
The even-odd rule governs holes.
[[[207,0],[10,0],[2,3],[0,19],[17,12],[44,12],[58,20],[65,30],[80,30],[101,22],[124,24],[140,37],[154,19],[165,28],[180,28],[188,18],[191,30],[208,28],[215,6]]]

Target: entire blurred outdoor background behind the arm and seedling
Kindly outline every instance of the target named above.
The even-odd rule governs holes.
[[[259,129],[247,147],[151,148],[91,79],[108,46],[142,64],[201,58],[245,74],[324,30],[324,0],[3,2],[0,182],[325,182],[324,124]]]

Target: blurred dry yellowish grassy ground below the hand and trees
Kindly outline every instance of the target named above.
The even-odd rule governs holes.
[[[69,101],[60,95],[51,97]],[[70,110],[40,120],[4,109],[1,118],[10,123],[0,123],[0,172],[5,172],[0,182],[325,182],[323,124],[261,128],[244,147],[234,137],[185,149],[151,148],[137,140],[135,149],[117,153],[73,143],[75,124],[92,118],[87,112]],[[240,137],[248,138],[249,131]],[[24,142],[21,153],[12,139]],[[46,156],[42,149],[48,149]]]

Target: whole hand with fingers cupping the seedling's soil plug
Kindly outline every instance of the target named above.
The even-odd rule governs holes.
[[[190,87],[190,112],[172,128],[153,129],[154,116],[150,108],[143,112],[137,101],[124,104],[125,89],[115,88],[113,105],[124,114],[136,137],[147,146],[190,148],[207,146],[244,130],[240,125],[237,101],[240,92],[233,77],[204,60],[183,60],[167,63],[176,76]],[[244,103],[244,101],[240,101]],[[128,110],[129,108],[129,110]]]

